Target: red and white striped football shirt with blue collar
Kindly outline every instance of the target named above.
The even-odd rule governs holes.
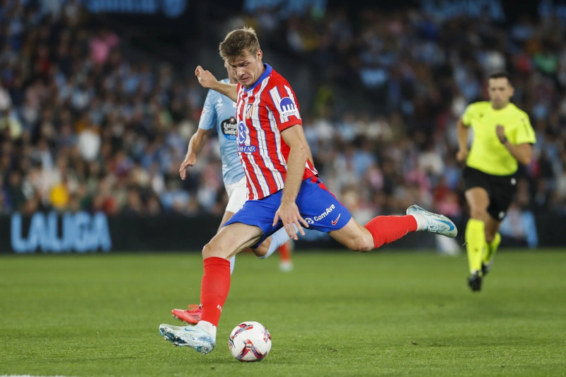
[[[265,71],[251,88],[238,83],[236,102],[236,141],[250,200],[282,190],[289,146],[281,132],[296,124],[303,125],[293,89],[269,64],[264,66]],[[303,180],[313,175],[318,172],[307,160]]]

